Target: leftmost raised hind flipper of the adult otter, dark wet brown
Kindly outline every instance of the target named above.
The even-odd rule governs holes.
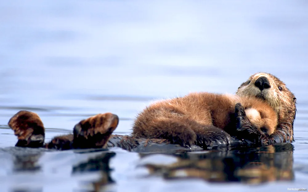
[[[34,112],[19,111],[8,123],[18,137],[17,147],[43,147],[45,128],[42,120]]]

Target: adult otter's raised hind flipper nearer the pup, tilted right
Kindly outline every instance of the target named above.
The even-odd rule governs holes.
[[[112,113],[98,114],[80,121],[74,127],[73,148],[105,147],[118,123],[119,117]]]

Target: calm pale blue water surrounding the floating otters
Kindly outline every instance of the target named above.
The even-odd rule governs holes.
[[[0,191],[308,189],[306,1],[1,1],[0,31]],[[36,112],[48,140],[113,112],[115,133],[129,134],[153,99],[235,93],[260,71],[297,97],[293,145],[177,156],[46,152],[14,148],[6,126],[19,110]],[[235,172],[240,181],[218,182],[237,181]]]

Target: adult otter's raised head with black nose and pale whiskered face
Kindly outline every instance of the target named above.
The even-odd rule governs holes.
[[[285,127],[293,141],[293,122],[296,113],[296,98],[281,80],[269,73],[256,73],[241,84],[239,96],[253,96],[265,100],[278,115],[278,128]]]

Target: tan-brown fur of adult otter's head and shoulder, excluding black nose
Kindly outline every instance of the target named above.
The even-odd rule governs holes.
[[[255,82],[263,76],[268,79],[270,87],[261,91]],[[241,84],[236,94],[265,100],[278,115],[278,126],[271,135],[273,141],[278,143],[294,141],[293,123],[296,115],[296,98],[280,79],[269,73],[253,74]]]

